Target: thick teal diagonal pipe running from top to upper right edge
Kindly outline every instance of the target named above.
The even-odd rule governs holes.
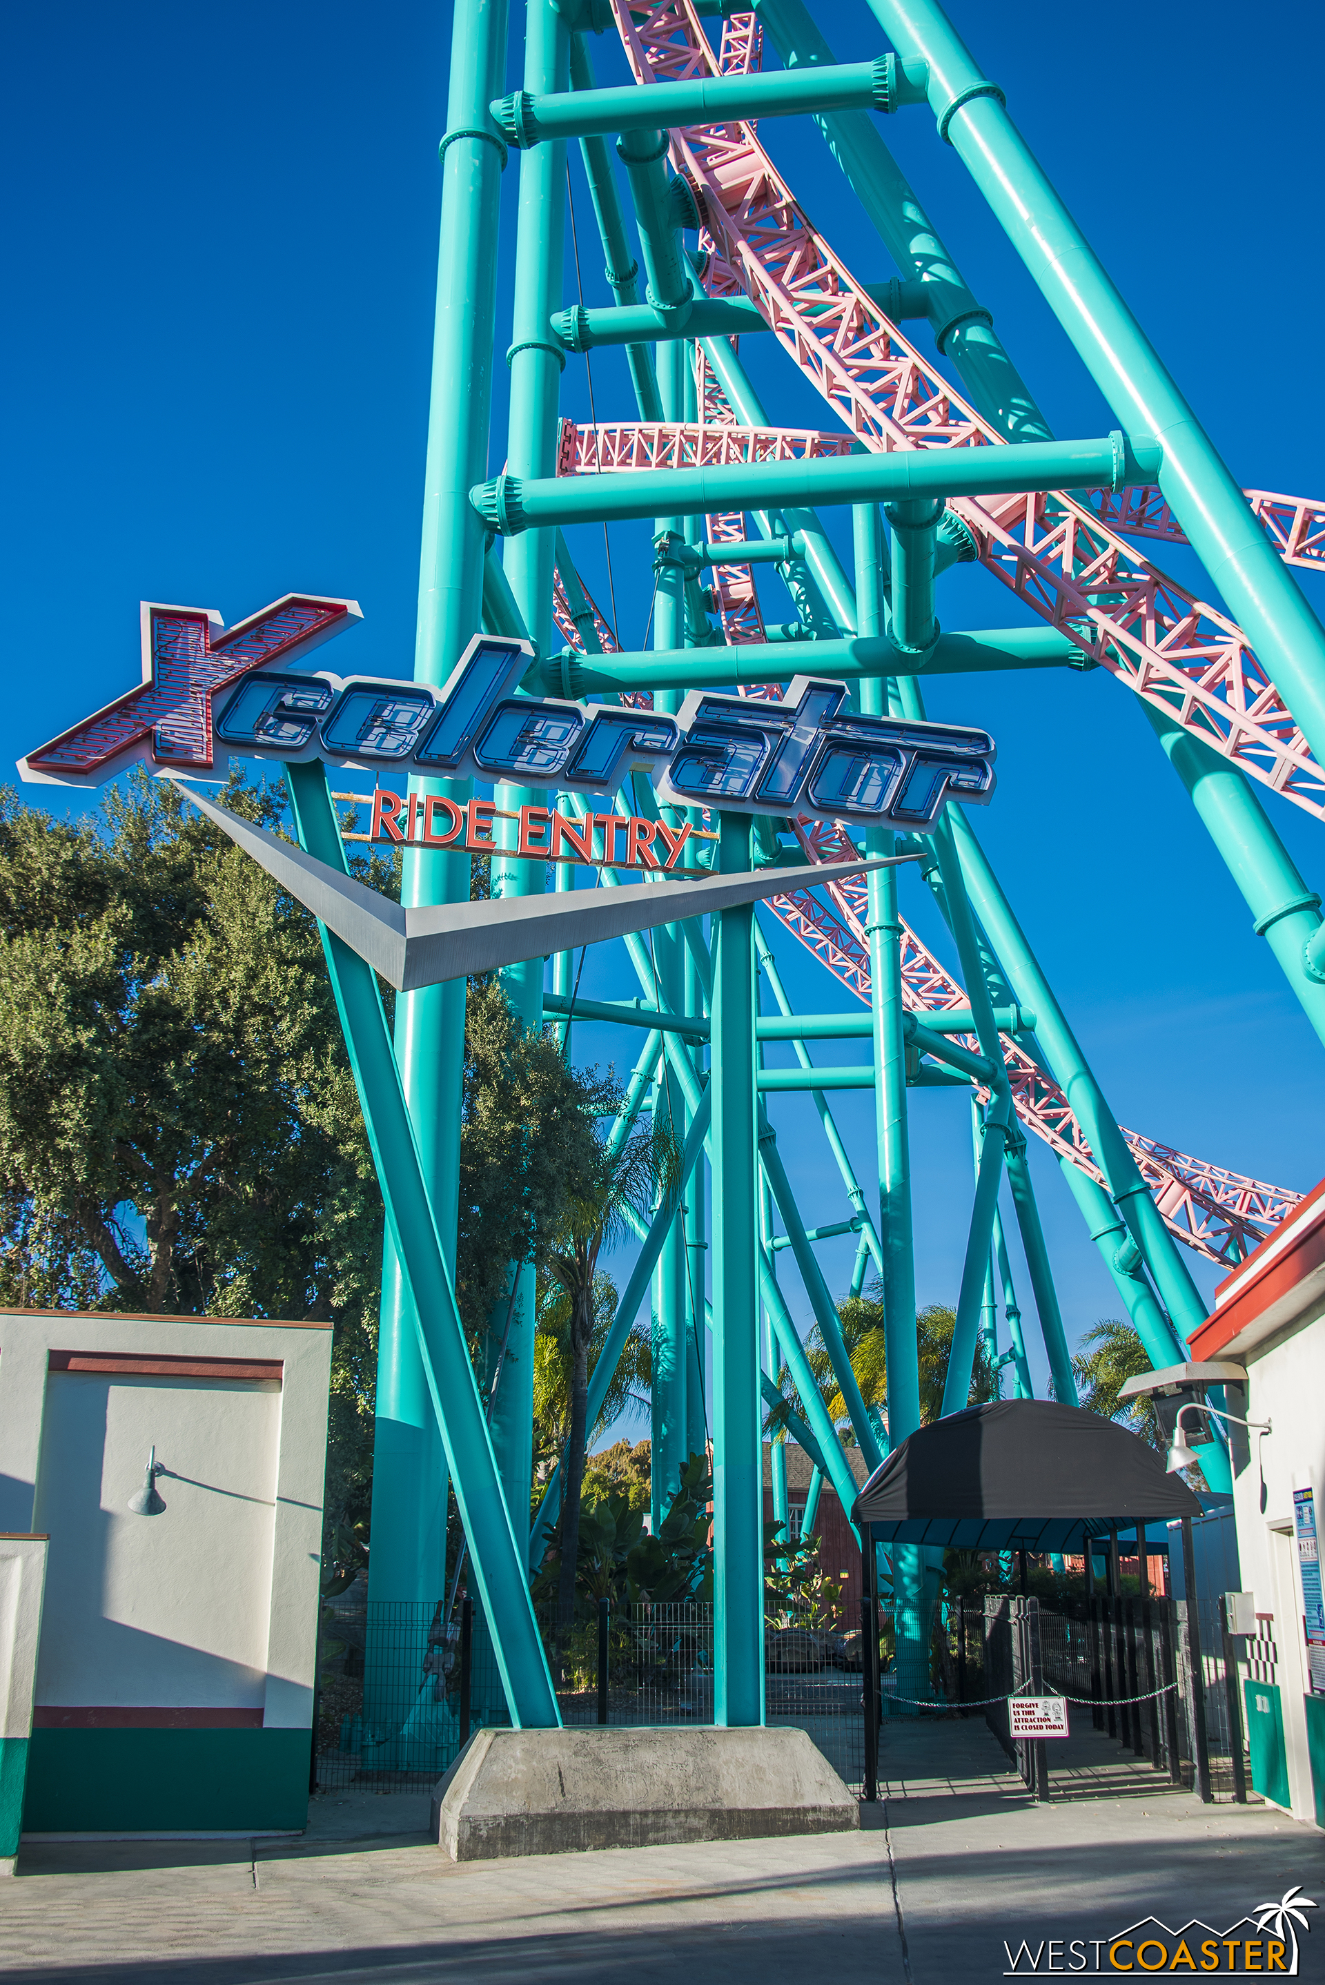
[[[1160,441],[1164,498],[1325,764],[1325,629],[1242,488],[942,8],[934,0],[871,0],[871,8],[903,64],[928,62],[940,137],[956,147],[1115,417]]]

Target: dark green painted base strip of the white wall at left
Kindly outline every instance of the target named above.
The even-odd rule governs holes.
[[[38,1729],[24,1832],[298,1830],[307,1749],[307,1731]]]

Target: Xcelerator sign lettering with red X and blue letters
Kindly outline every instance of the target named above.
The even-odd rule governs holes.
[[[143,607],[143,685],[20,758],[28,780],[95,786],[149,762],[200,778],[230,758],[321,758],[363,772],[615,792],[647,774],[682,808],[926,832],[948,796],[986,804],[994,738],[958,725],[863,717],[845,683],[797,675],[782,701],[692,691],[676,717],[518,693],[528,641],[474,635],[442,689],[296,673],[359,617],[288,596],[238,627]]]

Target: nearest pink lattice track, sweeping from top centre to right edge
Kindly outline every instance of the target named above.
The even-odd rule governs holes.
[[[720,73],[690,0],[613,6],[639,83]],[[813,228],[754,125],[672,131],[670,151],[712,242],[710,294],[744,290],[853,437],[881,451],[1002,443]],[[1321,768],[1224,613],[1063,494],[962,498],[952,508],[976,532],[986,570],[1071,631],[1093,661],[1252,778],[1325,814]]]

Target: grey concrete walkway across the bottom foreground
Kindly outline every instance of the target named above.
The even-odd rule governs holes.
[[[1141,1916],[1218,1927],[1325,1838],[1200,1806],[1093,1731],[1035,1808],[980,1721],[889,1723],[859,1834],[454,1868],[413,1796],[321,1794],[298,1840],[30,1842],[0,1894],[6,1985],[772,1985],[996,1979],[1012,1947]],[[1325,1914],[1325,1912],[1323,1912]],[[1317,1931],[1325,1961],[1325,1925]],[[1311,1957],[1303,1951],[1303,1973]],[[1317,1963],[1317,1971],[1321,1963]]]

